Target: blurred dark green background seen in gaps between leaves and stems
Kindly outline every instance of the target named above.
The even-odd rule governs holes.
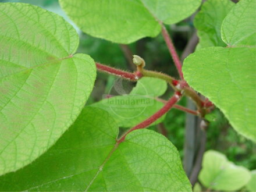
[[[80,35],[80,45],[77,52],[90,55],[95,61],[125,70],[132,70],[133,66],[127,61],[122,45],[114,44],[109,41],[90,37],[82,33],[78,27],[65,15],[59,6],[58,0],[0,0],[0,2],[23,2],[40,6],[44,9],[55,12],[63,16],[67,22],[71,23]],[[167,26],[173,42],[179,55],[182,54],[187,42],[194,32],[193,22],[191,19],[184,20],[173,26]],[[143,38],[133,44],[128,45],[132,54],[140,55],[145,59],[146,68],[167,73],[177,77],[175,66],[166,48],[165,42],[161,35],[156,38]],[[102,95],[108,94],[113,86],[115,77],[103,73],[97,73],[97,80],[93,93],[87,104],[102,99]],[[134,86],[134,83],[130,84]],[[166,93],[161,97],[168,99],[172,90],[168,88]],[[180,105],[186,106],[186,99],[179,102]],[[229,125],[222,113],[215,109],[207,119],[211,122],[207,130],[207,149],[216,150],[226,155],[229,161],[236,165],[244,166],[250,170],[256,169],[256,145],[240,136]],[[158,126],[151,126],[149,129],[165,131],[166,137],[177,147],[183,158],[184,145],[184,127],[186,123],[186,114],[177,109],[168,112],[164,122]],[[121,131],[122,127],[120,128]]]

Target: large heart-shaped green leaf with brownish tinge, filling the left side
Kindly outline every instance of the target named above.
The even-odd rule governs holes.
[[[79,37],[62,17],[24,3],[0,3],[0,175],[47,151],[74,122],[95,80],[76,54]]]

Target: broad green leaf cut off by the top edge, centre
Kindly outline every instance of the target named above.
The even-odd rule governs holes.
[[[155,37],[160,21],[179,22],[200,6],[200,0],[60,0],[62,9],[84,33],[129,44]],[[159,22],[158,22],[159,20]]]

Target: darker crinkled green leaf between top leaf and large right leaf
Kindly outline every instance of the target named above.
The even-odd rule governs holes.
[[[221,24],[234,3],[230,0],[205,1],[194,19],[194,25],[200,38],[197,48],[226,47],[221,39]]]

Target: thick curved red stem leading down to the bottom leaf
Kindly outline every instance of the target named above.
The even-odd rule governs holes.
[[[175,94],[168,100],[168,102],[166,102],[166,104],[159,111],[157,111],[156,113],[154,113],[154,115],[150,116],[150,118],[144,120],[138,125],[131,127],[131,129],[129,129],[125,134],[123,134],[122,137],[119,138],[118,143],[123,142],[127,134],[129,134],[131,131],[148,127],[151,125],[151,123],[161,118],[161,116],[163,116],[166,112],[168,112],[169,109],[172,108],[173,105],[175,105],[176,102],[178,102],[181,97],[182,97],[182,94],[179,91],[176,91]]]

